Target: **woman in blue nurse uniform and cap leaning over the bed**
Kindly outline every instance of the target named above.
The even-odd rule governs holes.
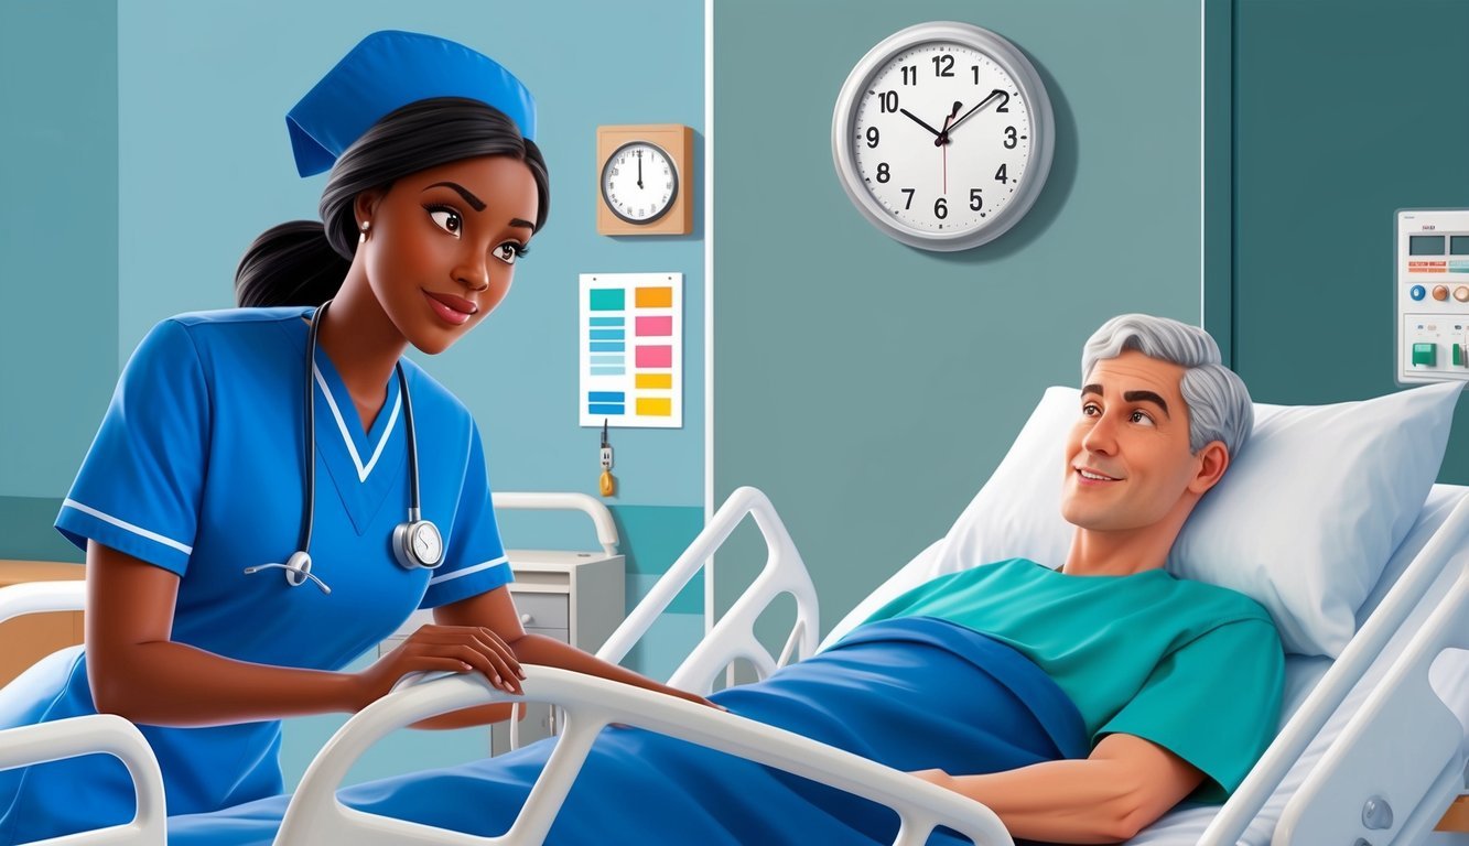
[[[301,100],[286,123],[301,175],[331,169],[322,223],[250,247],[244,308],[170,317],[134,352],[56,521],[87,552],[85,649],[7,686],[0,727],[126,717],[175,815],[281,793],[281,718],[354,712],[405,673],[519,692],[535,662],[702,702],[523,632],[479,429],[403,355],[510,291],[546,222],[535,122],[508,70],[410,32],[369,35]],[[435,624],[342,671],[416,608]],[[0,843],[132,811],[112,758],[0,774]]]

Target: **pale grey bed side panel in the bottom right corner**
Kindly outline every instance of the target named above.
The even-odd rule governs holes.
[[[1469,648],[1469,555],[1459,579],[1285,805],[1272,843],[1419,843],[1463,790],[1463,726],[1429,684]]]

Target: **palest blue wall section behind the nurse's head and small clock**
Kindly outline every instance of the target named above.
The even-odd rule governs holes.
[[[574,26],[567,25],[574,21]],[[536,94],[551,217],[505,304],[425,366],[474,413],[499,489],[596,491],[596,435],[576,419],[576,289],[583,272],[685,275],[682,430],[614,435],[618,505],[704,501],[704,247],[595,232],[596,126],[686,123],[702,134],[704,16],[657,0],[630,16],[595,0],[123,3],[119,38],[119,338],[126,355],[160,317],[232,304],[254,235],[314,217],[325,175],[298,179],[285,112],[375,29],[441,34],[494,56]],[[668,44],[636,51],[640,40]],[[701,135],[702,137],[702,135]],[[702,173],[695,173],[698,185]]]

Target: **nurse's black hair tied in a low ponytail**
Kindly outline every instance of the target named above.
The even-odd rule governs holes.
[[[336,295],[357,251],[353,201],[410,173],[476,156],[511,156],[536,181],[536,232],[551,206],[551,179],[533,141],[504,112],[479,100],[438,97],[388,113],[348,147],[322,191],[322,222],[292,220],[260,234],[235,269],[242,307],[320,306]]]

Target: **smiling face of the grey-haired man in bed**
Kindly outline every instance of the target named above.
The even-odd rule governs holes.
[[[1066,438],[1061,513],[1097,532],[1136,530],[1166,517],[1181,524],[1200,458],[1188,451],[1184,369],[1128,350],[1097,361],[1081,388]],[[1183,508],[1180,514],[1178,510]]]

